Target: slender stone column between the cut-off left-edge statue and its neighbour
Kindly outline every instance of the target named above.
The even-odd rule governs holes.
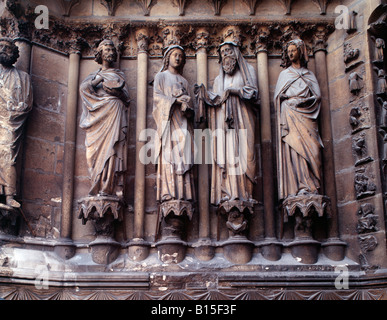
[[[69,56],[69,78],[67,93],[67,110],[65,123],[64,167],[62,185],[62,219],[61,243],[55,247],[55,252],[62,258],[69,259],[75,254],[72,236],[73,194],[75,143],[77,136],[77,110],[79,90],[80,48],[74,46]]]

